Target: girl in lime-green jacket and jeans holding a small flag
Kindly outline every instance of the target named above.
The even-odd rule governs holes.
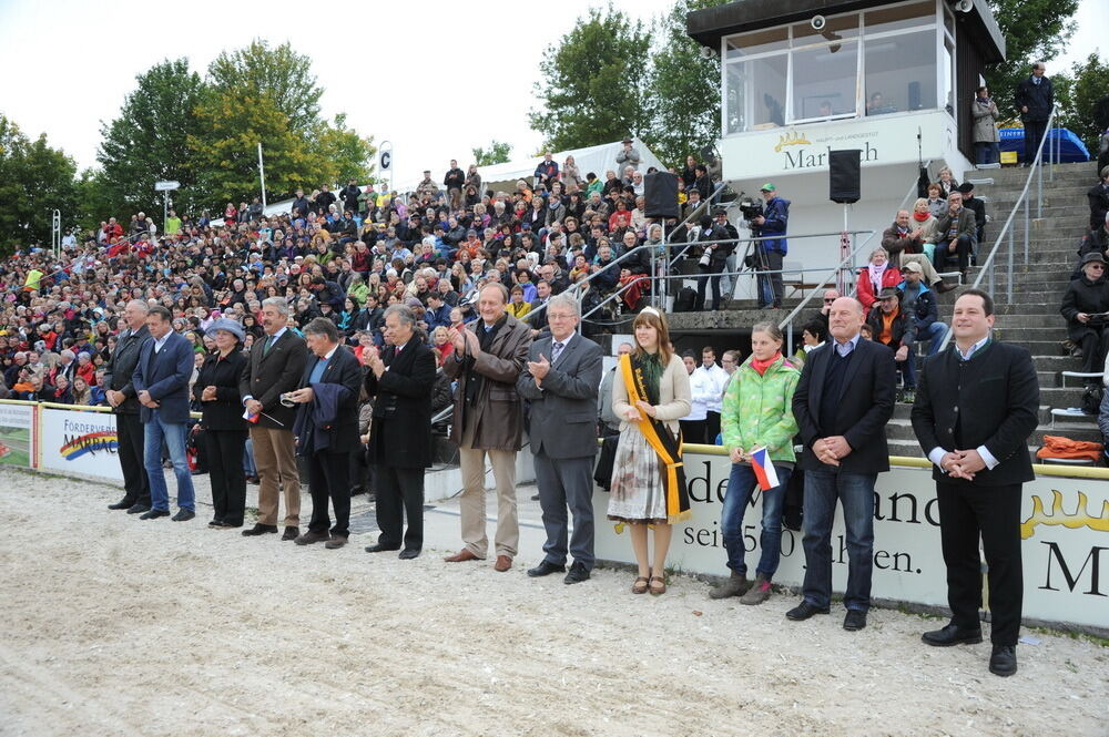
[[[773,323],[760,323],[751,328],[751,356],[736,370],[739,379],[728,385],[724,397],[724,447],[732,471],[720,515],[721,535],[728,552],[731,575],[723,585],[710,592],[711,598],[740,596],[741,604],[762,604],[771,594],[771,581],[777,571],[782,543],[782,506],[796,455],[793,436],[797,421],[793,417],[793,395],[801,371],[782,355],[784,336]],[[777,483],[763,488],[759,467],[752,454],[766,451]],[[747,581],[744,561],[743,516],[751,494],[762,489],[762,554],[755,569],[754,582]]]

